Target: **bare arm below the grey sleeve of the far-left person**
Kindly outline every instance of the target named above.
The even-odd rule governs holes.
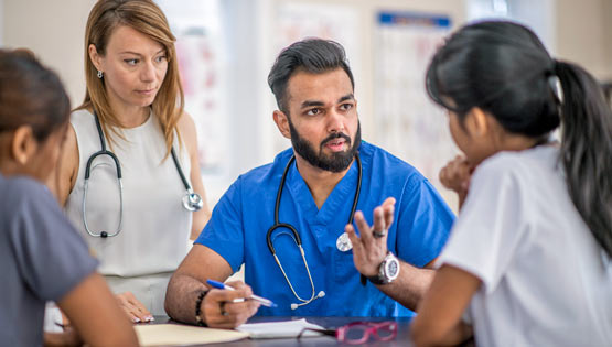
[[[128,316],[98,273],[85,278],[57,305],[89,346],[138,346]]]

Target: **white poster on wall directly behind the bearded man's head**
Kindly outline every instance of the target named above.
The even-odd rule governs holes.
[[[279,2],[273,15],[277,23],[273,52],[280,52],[291,43],[305,37],[333,40],[344,46],[353,75],[355,79],[359,79],[362,63],[358,14],[354,6]],[[291,145],[289,140],[281,137],[277,135],[275,139],[275,152]]]

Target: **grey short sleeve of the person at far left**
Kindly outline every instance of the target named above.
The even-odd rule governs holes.
[[[9,237],[19,273],[41,300],[60,301],[98,262],[44,186],[19,178],[9,191],[15,202]]]

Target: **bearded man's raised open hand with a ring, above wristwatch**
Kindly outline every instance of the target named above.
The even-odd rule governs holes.
[[[387,256],[387,231],[394,220],[395,198],[387,198],[383,205],[374,209],[374,225],[371,228],[362,212],[355,213],[355,223],[359,236],[352,225],[347,224],[344,231],[353,243],[353,262],[357,271],[365,276],[378,273],[378,267]]]

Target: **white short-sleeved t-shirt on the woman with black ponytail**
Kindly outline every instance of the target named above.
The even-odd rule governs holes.
[[[477,276],[479,346],[612,346],[612,265],[568,194],[558,149],[475,171],[439,264]]]

